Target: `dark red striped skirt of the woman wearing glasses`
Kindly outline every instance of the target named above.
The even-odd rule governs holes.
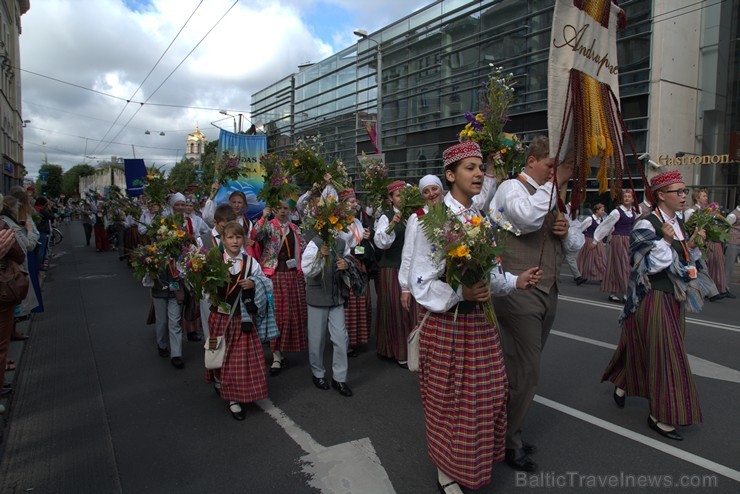
[[[686,356],[686,309],[672,293],[648,290],[624,321],[619,345],[602,381],[628,396],[647,398],[650,413],[665,424],[702,421],[701,408]]]

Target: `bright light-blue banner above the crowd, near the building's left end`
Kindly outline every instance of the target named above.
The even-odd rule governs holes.
[[[260,158],[267,154],[267,136],[265,134],[234,134],[221,129],[218,136],[219,159],[224,152],[239,156],[240,165],[247,169],[247,173],[238,181],[229,181],[225,186],[222,185],[214,201],[217,205],[227,203],[229,195],[240,190],[247,196],[247,216],[254,218],[261,215],[265,205],[257,200],[257,193],[264,185],[262,177],[264,170],[260,164]]]

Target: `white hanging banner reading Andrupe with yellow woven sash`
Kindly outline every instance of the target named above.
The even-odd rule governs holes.
[[[624,11],[612,1],[557,0],[547,71],[547,120],[550,157],[561,161],[575,153],[571,210],[586,193],[590,165],[598,165],[599,192],[622,188],[626,166],[622,133],[632,141],[619,110],[617,29],[626,26]],[[642,167],[635,161],[643,175]],[[632,187],[634,189],[634,186]]]

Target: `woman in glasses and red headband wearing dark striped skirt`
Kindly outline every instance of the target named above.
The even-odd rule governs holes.
[[[673,425],[702,421],[694,377],[684,344],[687,305],[701,308],[705,287],[697,278],[701,252],[676,214],[686,201],[678,171],[659,173],[650,182],[656,209],[637,222],[631,235],[629,298],[619,317],[622,336],[602,381],[615,386],[621,408],[625,395],[647,398],[648,425],[680,441]]]

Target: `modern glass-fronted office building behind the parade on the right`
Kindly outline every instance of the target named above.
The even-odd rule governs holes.
[[[516,77],[506,131],[547,131],[554,0],[441,0],[252,95],[270,151],[320,134],[357,177],[357,155],[382,152],[391,176],[439,173],[463,113],[479,108],[490,64]],[[677,166],[713,200],[738,200],[738,2],[627,0],[618,35],[621,109],[648,176]],[[358,26],[361,27],[361,26]],[[380,87],[378,80],[381,81]],[[377,136],[374,134],[377,132]],[[373,141],[373,139],[375,141]],[[593,182],[589,185],[596,187]],[[642,188],[641,180],[636,182]],[[590,196],[594,198],[594,194]]]

